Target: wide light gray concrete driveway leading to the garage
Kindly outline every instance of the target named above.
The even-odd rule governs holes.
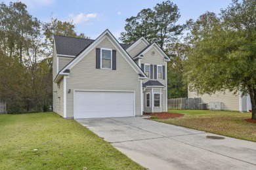
[[[148,169],[256,169],[256,143],[144,118],[76,120]]]

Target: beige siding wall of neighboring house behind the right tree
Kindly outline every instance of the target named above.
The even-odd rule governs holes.
[[[203,94],[203,95],[196,95],[195,92],[190,92],[188,90],[188,98],[194,98],[194,97],[201,97],[202,103],[208,103],[210,101],[220,101],[221,103],[221,109],[222,110],[240,110],[240,101],[239,95],[234,95],[232,92],[216,92],[213,95]]]

